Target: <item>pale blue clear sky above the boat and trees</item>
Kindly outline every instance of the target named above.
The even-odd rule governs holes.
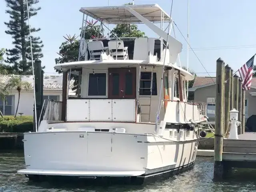
[[[122,5],[132,0],[110,0],[110,5]],[[168,14],[171,0],[134,0],[135,4],[159,4]],[[108,6],[108,0],[40,0],[42,9],[30,19],[32,27],[41,28],[36,35],[43,41],[42,65],[46,74],[55,73],[54,59],[66,34],[78,35],[82,25],[81,7]],[[190,0],[189,6],[189,68],[198,76],[215,76],[216,60],[238,70],[256,53],[255,0]],[[0,48],[12,48],[12,38],[5,34],[9,15],[6,2],[0,1]],[[188,32],[187,0],[174,0],[172,19],[184,37]],[[138,25],[148,37],[158,36],[143,24]],[[113,28],[113,26],[111,26]],[[182,42],[182,66],[187,63],[187,43],[176,27],[176,38]],[[172,33],[173,34],[173,33]],[[198,60],[199,58],[199,60]],[[204,69],[204,67],[206,70]]]

